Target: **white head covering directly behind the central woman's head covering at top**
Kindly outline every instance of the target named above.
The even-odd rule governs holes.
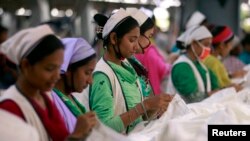
[[[130,14],[141,26],[149,17],[141,10],[135,7],[128,7],[126,8],[126,12]]]

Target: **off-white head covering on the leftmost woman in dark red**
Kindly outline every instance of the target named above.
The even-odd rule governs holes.
[[[19,65],[21,59],[30,53],[43,37],[51,34],[54,32],[48,25],[21,30],[0,45],[0,52]]]

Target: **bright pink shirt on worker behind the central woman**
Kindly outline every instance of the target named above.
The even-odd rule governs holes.
[[[172,65],[164,61],[163,56],[158,52],[155,45],[151,44],[144,54],[136,54],[135,57],[148,70],[149,81],[155,95],[162,92],[161,82],[169,76]]]

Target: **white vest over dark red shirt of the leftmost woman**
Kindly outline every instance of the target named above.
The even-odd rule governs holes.
[[[49,136],[47,135],[47,132],[40,118],[38,117],[35,109],[27,101],[27,99],[17,90],[16,86],[13,85],[9,89],[7,89],[3,96],[0,97],[0,102],[8,99],[13,100],[18,105],[27,123],[36,128],[39,133],[39,140],[49,141]]]

